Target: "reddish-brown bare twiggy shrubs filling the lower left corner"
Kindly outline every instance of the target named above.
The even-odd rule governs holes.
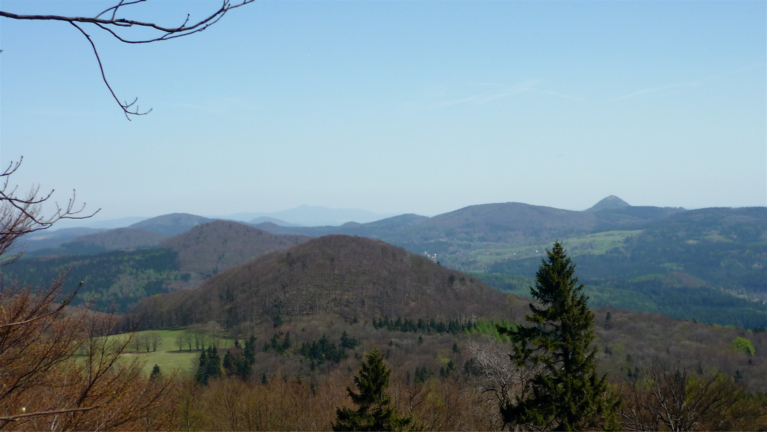
[[[120,362],[132,341],[104,337],[116,319],[68,309],[71,296],[57,303],[63,287],[0,292],[0,429],[166,429],[173,377],[149,381],[137,359]]]

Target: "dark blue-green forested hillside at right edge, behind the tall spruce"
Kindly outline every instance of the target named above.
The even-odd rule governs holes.
[[[594,305],[767,326],[765,208],[685,211],[648,224],[602,254],[578,252],[574,248],[578,277]],[[539,263],[539,257],[505,259],[492,263],[483,279],[503,287],[504,277],[492,273],[532,278]]]

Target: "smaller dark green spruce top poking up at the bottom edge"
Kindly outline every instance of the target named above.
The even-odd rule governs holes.
[[[333,430],[417,429],[413,417],[400,417],[391,406],[391,397],[387,394],[391,369],[384,363],[384,354],[374,349],[365,357],[367,362],[362,362],[360,375],[354,377],[359,393],[346,389],[357,410],[338,408]]]

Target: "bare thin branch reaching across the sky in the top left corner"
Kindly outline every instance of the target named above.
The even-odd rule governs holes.
[[[130,116],[143,116],[144,114],[150,113],[152,109],[150,108],[150,110],[141,111],[136,104],[138,98],[135,98],[133,102],[130,103],[127,101],[120,102],[120,99],[114,93],[114,90],[112,90],[109,80],[107,80],[107,74],[104,73],[104,65],[101,64],[101,57],[96,44],[93,39],[91,39],[91,35],[85,31],[85,26],[90,25],[98,31],[105,31],[118,41],[126,44],[149,44],[156,41],[168,41],[170,39],[181,38],[183,36],[188,36],[189,34],[203,31],[211,25],[216,24],[226,12],[231,11],[234,8],[239,8],[242,5],[252,3],[255,0],[242,0],[242,2],[235,4],[232,4],[229,0],[222,0],[221,6],[205,18],[190,21],[191,17],[187,14],[186,19],[178,26],[159,25],[151,21],[140,21],[128,18],[130,15],[123,15],[124,13],[130,14],[130,12],[134,10],[133,8],[130,8],[130,6],[147,1],[148,0],[120,0],[116,5],[106,8],[104,11],[101,11],[92,17],[20,15],[7,11],[0,11],[0,17],[26,21],[64,21],[74,26],[74,28],[77,28],[77,31],[80,31],[81,34],[83,34],[93,48],[104,84],[107,85],[107,89],[109,89],[112,97],[117,101],[117,104],[120,105],[125,117],[130,120]],[[149,35],[147,35],[147,32]]]

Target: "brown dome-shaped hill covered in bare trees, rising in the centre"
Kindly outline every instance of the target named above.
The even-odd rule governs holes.
[[[347,321],[502,318],[505,295],[475,278],[364,237],[331,235],[234,267],[196,290],[141,300],[145,328],[216,320],[227,328],[281,316]]]

